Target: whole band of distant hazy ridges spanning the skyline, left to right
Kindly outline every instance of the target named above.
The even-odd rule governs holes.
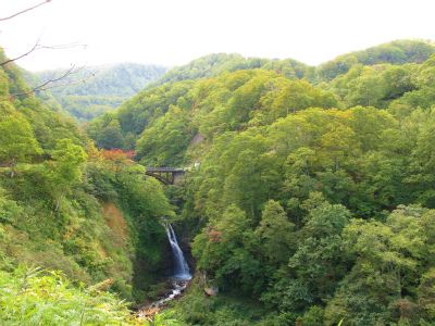
[[[245,58],[237,53],[213,53],[192,60],[186,65],[169,68],[156,65],[123,63],[75,70],[62,78],[59,85],[37,93],[51,110],[66,112],[78,124],[85,124],[105,112],[119,108],[140,90],[149,90],[164,84],[183,80],[212,78],[223,73],[262,68],[275,71],[290,80],[306,79],[312,85],[330,83],[344,75],[357,63],[362,65],[422,63],[435,52],[434,41],[422,39],[394,40],[365,50],[338,55],[319,66],[309,66],[293,59]],[[38,85],[62,76],[66,71],[25,73],[30,85]],[[85,83],[78,83],[85,80]]]

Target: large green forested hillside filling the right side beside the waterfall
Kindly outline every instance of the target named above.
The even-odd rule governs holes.
[[[89,124],[99,147],[146,166],[201,163],[171,198],[222,294],[194,286],[179,321],[433,325],[434,49],[393,41],[301,76],[178,70]]]

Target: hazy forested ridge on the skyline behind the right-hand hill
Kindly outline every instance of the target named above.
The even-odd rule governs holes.
[[[294,59],[245,58],[237,53],[213,53],[190,61],[183,66],[167,71],[158,80],[145,88],[151,89],[165,83],[217,77],[224,72],[263,68],[276,71],[289,79],[306,79],[313,85],[330,83],[336,76],[346,74],[355,64],[375,65],[389,63],[423,63],[435,52],[435,41],[428,39],[400,39],[377,45],[365,50],[338,55],[334,60],[310,66]]]

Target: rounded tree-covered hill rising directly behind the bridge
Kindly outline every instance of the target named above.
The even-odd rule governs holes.
[[[107,135],[117,120],[121,134],[136,138],[136,160],[145,165],[177,166],[198,133],[211,140],[222,133],[264,125],[310,105],[330,109],[336,104],[331,92],[307,82],[290,82],[275,70],[244,70],[209,80],[177,82],[144,90],[115,113],[91,122],[86,133],[99,147],[109,148],[107,141],[122,138],[119,130],[114,131],[116,137]]]

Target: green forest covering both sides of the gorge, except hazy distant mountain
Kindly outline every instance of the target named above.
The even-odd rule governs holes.
[[[1,98],[27,87],[0,73]],[[101,325],[141,323],[116,300],[156,294],[164,217],[195,276],[156,325],[435,325],[434,80],[435,47],[396,40],[319,66],[207,55],[84,134],[33,96],[1,101],[0,317],[65,321],[20,296],[49,284],[75,315],[101,300]]]

